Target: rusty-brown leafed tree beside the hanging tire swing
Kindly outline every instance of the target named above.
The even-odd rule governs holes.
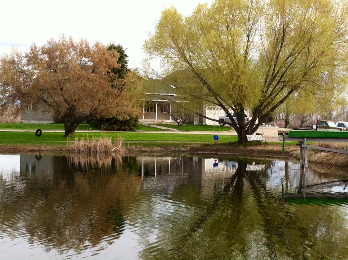
[[[136,113],[135,82],[130,73],[122,88],[109,76],[119,54],[100,43],[74,42],[62,36],[26,53],[14,50],[0,60],[2,108],[13,104],[45,107],[64,123],[65,136],[91,117],[127,117]]]

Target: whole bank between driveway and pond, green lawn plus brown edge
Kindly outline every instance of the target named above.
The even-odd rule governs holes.
[[[297,142],[287,142],[285,154],[283,155],[281,142],[249,142],[240,145],[236,143],[238,140],[236,135],[219,134],[220,140],[217,144],[214,144],[212,134],[183,134],[170,131],[160,133],[78,132],[75,133],[73,138],[68,139],[64,137],[63,132],[49,132],[45,131],[45,129],[42,135],[37,137],[35,136],[37,126],[33,126],[34,129],[25,132],[6,132],[0,130],[0,153],[66,152],[67,144],[74,141],[75,138],[79,140],[110,138],[113,142],[116,142],[117,136],[119,135],[126,147],[127,154],[159,153],[161,156],[168,154],[201,154],[202,156],[210,157],[223,154],[224,156],[242,156],[245,158],[299,159]],[[332,148],[337,149],[337,147]],[[343,148],[341,147],[341,149]],[[348,166],[348,159],[345,154],[318,152],[313,149],[308,150],[308,161],[310,163]]]

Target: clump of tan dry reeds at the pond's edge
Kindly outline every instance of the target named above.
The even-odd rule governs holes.
[[[118,136],[115,143],[112,143],[109,137],[99,137],[92,139],[75,139],[73,142],[68,143],[69,151],[79,153],[117,153],[119,156],[123,156],[125,148],[123,146],[122,139]]]

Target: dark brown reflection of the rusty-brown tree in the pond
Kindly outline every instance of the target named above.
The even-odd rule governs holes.
[[[95,246],[105,236],[119,237],[141,180],[117,168],[116,162],[99,167],[55,156],[54,172],[46,179],[21,173],[19,178],[26,183],[21,196],[11,188],[2,189],[6,200],[0,201],[0,230],[15,236],[25,229],[30,243],[61,253]]]

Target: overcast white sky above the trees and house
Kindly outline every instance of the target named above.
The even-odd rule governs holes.
[[[161,11],[175,6],[187,16],[201,2],[212,0],[2,0],[0,55],[65,34],[75,40],[121,44],[129,68],[141,68],[143,42],[154,31]]]

